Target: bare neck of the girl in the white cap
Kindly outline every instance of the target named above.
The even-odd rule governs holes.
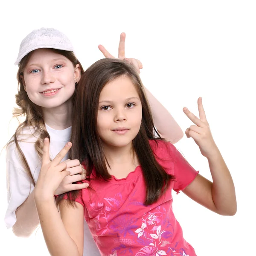
[[[69,99],[61,106],[55,108],[42,108],[44,122],[55,130],[64,130],[72,125],[72,100]]]

